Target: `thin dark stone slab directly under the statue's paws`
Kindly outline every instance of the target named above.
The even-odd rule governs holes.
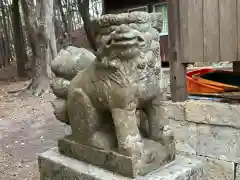
[[[119,173],[123,176],[135,178],[152,172],[161,166],[172,162],[175,158],[174,142],[162,146],[155,141],[144,139],[146,153],[140,161],[124,156],[114,150],[101,150],[76,142],[71,135],[59,140],[61,154],[84,161],[89,164]]]

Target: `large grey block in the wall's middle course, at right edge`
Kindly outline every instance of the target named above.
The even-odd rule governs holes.
[[[240,130],[210,126],[207,124],[197,125],[197,154],[215,159],[240,162]]]

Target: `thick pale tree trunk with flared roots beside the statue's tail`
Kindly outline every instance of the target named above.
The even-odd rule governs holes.
[[[39,96],[50,89],[51,69],[49,62],[51,57],[49,37],[52,37],[50,34],[52,29],[54,32],[54,25],[50,26],[50,22],[53,21],[53,0],[37,0],[36,11],[33,8],[33,0],[28,0],[28,2],[27,0],[21,0],[21,3],[26,27],[33,42],[33,78],[29,88],[33,90],[35,95]],[[48,26],[50,26],[49,29]],[[54,57],[54,50],[51,51]]]

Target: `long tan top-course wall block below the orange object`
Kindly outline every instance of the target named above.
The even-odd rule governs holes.
[[[191,100],[185,103],[186,121],[240,128],[240,105]]]

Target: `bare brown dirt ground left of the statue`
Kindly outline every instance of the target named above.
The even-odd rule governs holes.
[[[56,146],[70,128],[52,114],[52,94],[9,94],[28,82],[16,81],[14,75],[4,80],[0,81],[0,180],[38,180],[37,154]]]

